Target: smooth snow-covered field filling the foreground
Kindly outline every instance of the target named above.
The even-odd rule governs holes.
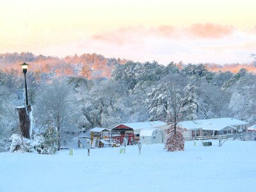
[[[203,147],[186,141],[184,152],[163,145],[85,149],[74,156],[0,153],[0,191],[256,191],[256,141]]]

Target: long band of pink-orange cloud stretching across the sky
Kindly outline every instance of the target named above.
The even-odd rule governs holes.
[[[222,38],[232,35],[232,26],[220,24],[193,24],[188,28],[177,28],[170,25],[146,28],[143,26],[126,27],[93,35],[92,39],[111,44],[141,44],[147,37],[177,39],[177,38]]]

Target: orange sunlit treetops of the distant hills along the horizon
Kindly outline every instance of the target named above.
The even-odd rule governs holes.
[[[16,69],[20,71],[20,63],[27,62],[30,64],[29,71],[39,73],[48,73],[51,76],[83,76],[88,79],[98,77],[111,77],[111,71],[116,64],[124,64],[126,59],[105,58],[100,54],[81,54],[81,56],[66,56],[58,58],[52,56],[38,55],[35,56],[31,52],[17,52],[0,54],[0,69],[10,70]],[[172,61],[170,61],[172,63]],[[160,63],[161,64],[161,63]],[[186,65],[180,61],[174,63],[180,70]],[[192,64],[192,63],[191,63]],[[237,73],[241,68],[248,72],[256,72],[256,63],[230,63],[218,65],[215,63],[204,63],[210,72],[232,72]]]

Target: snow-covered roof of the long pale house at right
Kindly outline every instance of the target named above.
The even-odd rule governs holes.
[[[225,127],[231,127],[234,129],[233,126],[248,124],[248,122],[237,120],[235,118],[211,118],[179,123],[180,126],[186,129],[202,129],[207,131],[220,131],[221,129],[225,129]]]

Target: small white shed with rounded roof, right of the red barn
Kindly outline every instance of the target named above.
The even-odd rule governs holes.
[[[162,143],[162,133],[159,129],[142,129],[140,141],[142,144]]]

